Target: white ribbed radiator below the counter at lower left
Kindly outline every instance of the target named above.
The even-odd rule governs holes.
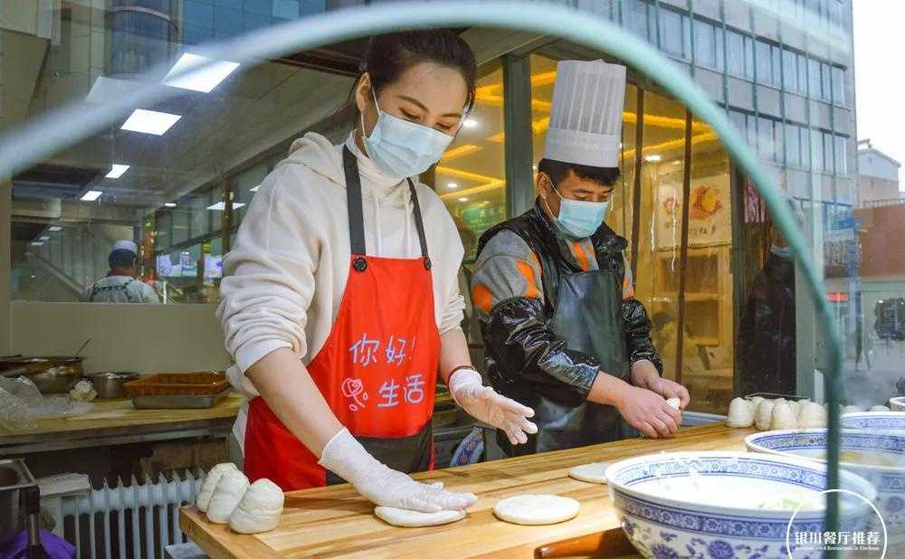
[[[205,474],[186,470],[170,479],[124,486],[107,481],[87,495],[63,497],[63,535],[78,548],[78,559],[160,559],[164,547],[186,542],[179,529],[179,507],[194,502]]]

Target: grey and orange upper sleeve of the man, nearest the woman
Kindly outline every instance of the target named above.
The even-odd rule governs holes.
[[[538,257],[519,235],[502,231],[481,251],[472,272],[472,305],[479,317],[510,298],[544,300]]]

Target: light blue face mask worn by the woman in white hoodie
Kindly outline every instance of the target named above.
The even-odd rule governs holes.
[[[374,91],[371,91],[372,97]],[[377,122],[370,136],[364,135],[365,117],[361,117],[362,139],[367,156],[386,175],[398,179],[421,175],[440,160],[452,142],[452,136],[403,118],[394,117],[377,105]]]

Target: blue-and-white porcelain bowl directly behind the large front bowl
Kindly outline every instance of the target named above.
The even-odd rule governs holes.
[[[755,452],[825,462],[826,430],[765,431],[748,435],[745,446]],[[890,543],[905,542],[905,433],[846,429],[839,448],[840,469],[876,488],[874,505],[886,522]]]

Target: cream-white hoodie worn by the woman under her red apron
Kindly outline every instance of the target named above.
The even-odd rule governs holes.
[[[346,145],[361,175],[367,254],[420,256],[408,183],[379,171],[351,135]],[[433,190],[415,188],[433,263],[433,315],[443,334],[462,322],[462,240]],[[264,179],[224,259],[217,317],[236,363],[229,371],[233,386],[257,395],[244,373],[281,347],[305,365],[318,355],[337,318],[350,255],[342,146],[310,132]],[[244,420],[243,410],[235,430],[240,443]]]

